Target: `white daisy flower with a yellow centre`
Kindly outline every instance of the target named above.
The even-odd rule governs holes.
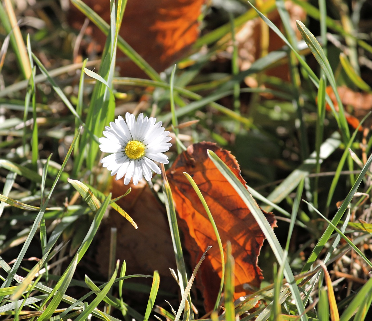
[[[104,153],[112,153],[101,159],[103,167],[116,174],[116,179],[124,175],[124,184],[127,185],[133,178],[133,184],[145,177],[151,180],[153,172],[161,174],[155,162],[168,164],[169,160],[163,153],[172,146],[169,131],[161,127],[161,121],[156,123],[154,117],[138,115],[137,121],[133,114],[127,112],[125,120],[119,116],[110,126],[105,126],[99,142],[99,148]]]

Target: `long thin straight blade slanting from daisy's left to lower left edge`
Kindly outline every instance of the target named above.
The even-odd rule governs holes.
[[[80,127],[80,130],[75,134],[74,138],[73,138],[73,141],[71,143],[71,146],[70,148],[68,149],[67,151],[67,155],[62,163],[62,166],[60,168],[60,171],[58,171],[58,174],[57,174],[57,177],[55,178],[55,181],[49,191],[49,194],[47,196],[47,199],[45,200],[45,203],[43,205],[43,207],[41,208],[40,212],[38,213],[38,215],[36,216],[36,219],[35,221],[33,222],[33,225],[32,225],[32,228],[26,238],[26,241],[23,243],[23,246],[22,246],[22,249],[20,250],[20,253],[18,254],[17,256],[17,259],[15,261],[15,263],[13,264],[11,270],[9,271],[5,281],[3,282],[3,284],[0,286],[0,288],[4,288],[4,287],[8,287],[10,285],[10,283],[12,282],[13,280],[13,277],[15,276],[19,266],[20,266],[20,263],[22,262],[23,258],[25,257],[25,254],[26,254],[26,251],[29,247],[29,245],[31,244],[31,241],[33,239],[33,236],[35,236],[35,233],[38,229],[38,226],[41,222],[41,219],[42,217],[44,216],[44,213],[45,213],[45,209],[47,208],[47,205],[48,205],[48,202],[52,196],[52,193],[54,191],[54,188],[55,186],[57,185],[57,182],[58,182],[58,179],[60,178],[61,174],[62,174],[62,171],[68,161],[68,159],[70,158],[70,155],[73,151],[73,148],[74,148],[74,145],[76,143],[76,139],[78,137],[78,135],[80,134],[80,131],[81,131],[81,127]],[[0,301],[2,301],[3,299],[3,296],[0,296]]]

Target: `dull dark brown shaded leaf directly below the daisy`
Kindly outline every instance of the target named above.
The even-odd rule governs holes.
[[[154,270],[158,270],[161,278],[160,289],[167,293],[178,293],[178,285],[169,271],[169,268],[176,269],[176,262],[164,206],[159,203],[144,181],[134,186],[124,185],[123,179],[112,180],[112,198],[124,194],[128,187],[132,187],[131,193],[117,203],[131,215],[138,229],[134,229],[115,210],[110,211],[99,230],[100,242],[96,248],[99,269],[103,274],[108,272],[110,229],[116,227],[118,229],[116,259],[121,263],[126,260],[126,275],[153,275]],[[151,286],[151,279],[136,278],[130,282]],[[137,299],[139,296],[141,295],[136,293]],[[146,304],[148,294],[145,294],[143,300]]]

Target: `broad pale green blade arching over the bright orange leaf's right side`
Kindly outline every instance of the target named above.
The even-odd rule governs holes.
[[[215,164],[217,169],[221,172],[221,174],[224,175],[224,177],[228,180],[228,182],[231,184],[234,190],[237,191],[237,193],[239,194],[241,199],[244,201],[244,203],[247,205],[254,219],[256,219],[258,225],[260,226],[262,232],[264,233],[267,241],[269,242],[269,245],[272,248],[272,251],[274,252],[276,259],[278,260],[278,262],[281,262],[282,258],[284,257],[284,252],[283,252],[282,247],[280,246],[278,238],[273,232],[273,229],[271,228],[269,222],[267,222],[266,217],[264,216],[262,210],[257,205],[256,201],[253,199],[251,194],[248,192],[246,186],[244,186],[238,180],[238,178],[231,171],[231,169],[228,168],[228,166],[214,152],[212,152],[211,150],[208,150],[208,156],[212,160],[212,162]],[[288,264],[288,261],[284,263],[283,273],[289,284],[292,295],[294,297],[295,304],[298,310],[298,314],[300,315],[300,319],[302,321],[307,321],[308,317],[304,313],[305,308],[302,303],[301,295],[299,293],[293,272],[291,270],[291,267]]]

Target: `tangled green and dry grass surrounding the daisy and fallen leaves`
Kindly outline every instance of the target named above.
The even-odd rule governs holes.
[[[244,321],[369,320],[372,140],[369,114],[357,99],[372,95],[371,39],[361,29],[369,19],[363,15],[368,3],[208,4],[200,16],[202,34],[189,55],[159,74],[120,36],[125,0],[110,1],[109,23],[83,1],[71,0],[107,36],[101,55],[79,63],[72,61],[71,39],[84,36],[67,25],[67,10],[58,1],[38,6],[19,2],[27,10],[18,4],[15,11],[10,1],[0,4],[4,320],[178,321],[183,316],[186,321],[231,321],[237,315]],[[289,22],[289,2],[308,17],[296,22],[297,30]],[[16,15],[34,18],[35,25],[17,24]],[[217,17],[219,26],[209,17]],[[250,22],[261,28],[255,43],[261,53],[243,68],[238,31]],[[273,39],[280,45],[269,50]],[[117,51],[145,75],[122,77]],[[278,66],[285,66],[289,77],[270,74]],[[344,93],[355,99],[345,102]],[[153,267],[142,273],[142,266],[134,266],[138,270],[132,273],[132,262],[116,260],[122,231],[114,228],[110,239],[103,239],[105,214],[113,209],[111,214],[119,213],[132,231],[140,232],[139,217],[132,217],[131,209],[138,200],[146,203],[141,194],[129,198],[134,186],[132,191],[112,190],[109,171],[99,163],[105,126],[126,111],[163,122],[174,145],[166,151],[170,163],[188,145],[203,140],[236,156],[251,194],[214,152],[208,154],[267,239],[259,257],[265,277],[260,289],[234,301],[231,244],[220,242],[225,266],[218,299],[213,312],[203,311],[203,298],[192,285],[209,249],[196,267],[190,266],[163,164],[162,177],[154,175],[148,183],[153,193],[149,202],[167,212],[168,245],[176,263],[170,274],[177,290],[163,290],[161,273]],[[209,212],[198,186],[187,178],[219,239],[216,213]],[[275,213],[274,231],[256,201]],[[141,234],[133,235],[137,245]],[[100,242],[109,244],[106,256],[96,253]],[[136,259],[146,255],[135,252]]]

